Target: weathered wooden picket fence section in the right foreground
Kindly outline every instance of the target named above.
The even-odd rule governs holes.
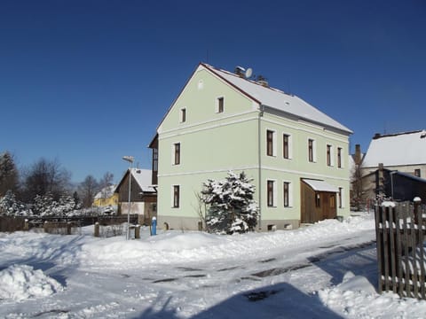
[[[379,292],[426,300],[426,210],[416,203],[375,206]]]

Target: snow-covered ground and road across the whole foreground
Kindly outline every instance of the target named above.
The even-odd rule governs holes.
[[[235,236],[91,233],[0,233],[0,317],[426,317],[426,301],[375,292],[372,214]]]

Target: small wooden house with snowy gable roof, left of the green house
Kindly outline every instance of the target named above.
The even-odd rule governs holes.
[[[130,214],[138,214],[140,224],[149,224],[157,216],[157,191],[151,183],[152,171],[149,169],[131,168],[122,176],[115,189],[118,194],[118,214],[129,212],[129,178]]]

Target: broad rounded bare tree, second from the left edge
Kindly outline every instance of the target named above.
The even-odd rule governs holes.
[[[26,172],[23,178],[23,198],[33,202],[37,195],[51,193],[54,200],[69,191],[71,174],[62,167],[58,159],[39,159]]]

